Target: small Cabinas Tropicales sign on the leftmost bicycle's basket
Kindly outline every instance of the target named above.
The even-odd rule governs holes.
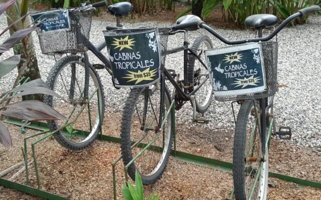
[[[31,14],[31,18],[40,27],[39,32],[70,29],[68,9],[36,12]]]

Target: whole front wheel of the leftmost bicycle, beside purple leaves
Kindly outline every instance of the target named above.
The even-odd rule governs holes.
[[[85,64],[77,55],[63,57],[53,66],[47,83],[60,97],[46,96],[45,102],[67,119],[48,121],[55,139],[64,147],[80,150],[89,146],[99,132],[104,116],[104,92],[98,73],[89,66],[88,100],[84,99]]]

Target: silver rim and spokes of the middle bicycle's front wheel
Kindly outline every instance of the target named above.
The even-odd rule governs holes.
[[[135,91],[136,90],[136,91]],[[134,158],[142,147],[146,144],[151,145],[144,151],[135,161],[134,168],[141,175],[144,184],[154,182],[162,173],[167,164],[168,157],[172,147],[172,115],[171,113],[165,118],[170,108],[170,98],[168,92],[165,92],[163,121],[165,125],[163,129],[158,129],[159,113],[161,108],[161,89],[159,84],[151,85],[145,88],[134,89],[137,96],[132,104],[133,113],[130,121],[130,140],[137,142],[137,145],[131,149],[131,156]],[[129,98],[133,97],[129,95]],[[125,110],[126,112],[126,110]],[[123,117],[123,120],[128,120]],[[123,155],[124,156],[124,155]],[[125,158],[126,159],[126,158]],[[134,172],[134,170],[132,170]],[[130,175],[130,174],[129,174]],[[133,174],[131,175],[133,178]]]

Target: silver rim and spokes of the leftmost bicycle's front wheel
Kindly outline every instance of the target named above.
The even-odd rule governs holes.
[[[74,91],[71,88],[74,88]],[[103,109],[103,102],[99,82],[91,68],[89,68],[87,103],[84,101],[84,88],[85,67],[83,62],[70,61],[57,72],[53,90],[60,97],[53,97],[52,107],[70,119],[54,123],[58,128],[75,120],[65,130],[60,131],[60,135],[70,144],[86,143],[98,133],[98,111]],[[80,130],[89,132],[89,134],[86,136],[85,132]]]

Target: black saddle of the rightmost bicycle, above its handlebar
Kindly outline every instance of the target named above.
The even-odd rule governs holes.
[[[276,23],[277,17],[273,14],[253,14],[245,19],[245,25],[248,27],[271,26]]]

